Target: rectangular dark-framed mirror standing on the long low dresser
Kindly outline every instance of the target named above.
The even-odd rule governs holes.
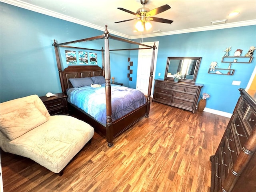
[[[167,57],[164,79],[173,80],[173,75],[181,72],[181,82],[195,83],[202,57]]]

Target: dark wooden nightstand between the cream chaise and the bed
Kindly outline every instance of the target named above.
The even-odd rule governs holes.
[[[66,115],[68,114],[67,95],[56,93],[58,96],[41,96],[39,97],[46,106],[50,115]]]

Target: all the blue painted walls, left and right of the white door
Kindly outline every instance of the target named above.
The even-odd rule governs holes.
[[[0,102],[30,94],[42,96],[47,92],[61,92],[53,39],[61,43],[103,34],[99,30],[2,2],[0,22]],[[239,97],[238,88],[245,88],[248,84],[255,68],[255,58],[250,64],[232,64],[232,69],[236,70],[233,76],[208,74],[208,68],[212,61],[217,61],[219,68],[227,68],[228,63],[221,63],[225,53],[222,51],[231,46],[230,55],[238,48],[243,50],[242,55],[246,54],[250,46],[256,46],[255,34],[256,26],[245,26],[144,38],[144,42],[159,41],[155,78],[164,78],[168,56],[202,57],[196,83],[204,84],[202,92],[211,95],[206,107],[232,113]],[[103,46],[100,40],[86,45],[95,49]],[[110,49],[117,47],[130,48],[130,44],[110,42]],[[97,53],[98,65],[102,66],[101,52]],[[65,68],[64,49],[61,54]],[[132,82],[127,78],[128,57],[134,64]],[[137,62],[138,51],[111,52],[111,76],[116,78],[116,82],[135,88]],[[240,86],[231,85],[233,80],[241,81]]]

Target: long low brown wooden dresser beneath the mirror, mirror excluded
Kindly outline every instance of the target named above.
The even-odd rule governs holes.
[[[196,111],[200,91],[204,85],[156,79],[153,101],[178,108]]]

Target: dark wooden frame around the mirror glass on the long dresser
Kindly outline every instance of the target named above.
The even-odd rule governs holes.
[[[171,60],[183,60],[183,59],[196,60],[196,67],[195,67],[193,79],[181,79],[180,82],[188,82],[188,83],[195,84],[202,57],[167,57],[164,79],[165,80],[174,80],[172,77],[167,77]]]

